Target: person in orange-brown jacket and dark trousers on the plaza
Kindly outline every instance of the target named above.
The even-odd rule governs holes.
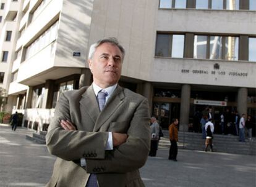
[[[173,123],[169,125],[169,139],[171,141],[171,146],[169,149],[169,160],[173,160],[175,162],[177,162],[178,124],[178,119],[173,119]]]

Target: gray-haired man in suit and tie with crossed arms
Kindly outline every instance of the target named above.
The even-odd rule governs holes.
[[[144,186],[150,150],[148,100],[117,85],[124,48],[116,38],[90,47],[93,84],[61,94],[46,135],[57,156],[46,186]]]

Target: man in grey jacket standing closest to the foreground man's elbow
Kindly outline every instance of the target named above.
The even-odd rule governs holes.
[[[156,156],[156,151],[158,149],[158,141],[159,141],[159,129],[160,126],[156,121],[156,117],[151,117],[151,144],[150,144],[150,153],[148,156]]]

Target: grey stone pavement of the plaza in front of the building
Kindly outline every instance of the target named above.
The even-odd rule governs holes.
[[[45,186],[49,180],[55,157],[45,145],[26,140],[32,133],[0,124],[1,187]],[[146,186],[256,186],[255,156],[179,149],[178,162],[173,162],[168,151],[160,148],[140,169]]]

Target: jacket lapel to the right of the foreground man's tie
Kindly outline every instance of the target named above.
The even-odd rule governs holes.
[[[111,117],[117,108],[122,105],[123,98],[125,97],[122,87],[117,86],[116,90],[114,90],[113,94],[109,98],[108,102],[105,105],[105,108],[101,111],[98,119],[95,122],[95,126],[93,132],[97,132],[100,127]],[[109,126],[109,124],[108,124]],[[108,126],[105,129],[108,129]]]

